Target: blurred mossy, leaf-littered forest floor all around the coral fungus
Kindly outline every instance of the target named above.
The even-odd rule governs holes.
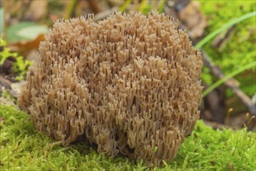
[[[58,141],[35,131],[29,113],[16,105],[26,71],[37,61],[37,49],[54,21],[93,12],[95,20],[114,10],[151,9],[179,19],[195,46],[230,21],[256,11],[254,1],[3,1],[0,5],[0,169],[1,170],[146,170],[124,156],[108,158],[93,146],[75,142],[63,148]],[[34,10],[37,9],[37,10]],[[4,15],[3,15],[4,14]],[[4,23],[2,21],[5,21]],[[228,26],[202,45],[204,92],[201,120],[181,145],[173,162],[154,170],[256,169],[255,65],[229,79],[235,71],[256,61],[255,15]],[[224,79],[225,80],[224,80]]]

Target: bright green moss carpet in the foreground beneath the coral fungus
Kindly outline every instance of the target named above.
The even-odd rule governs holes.
[[[124,156],[112,159],[86,143],[62,147],[35,131],[27,113],[0,106],[1,170],[150,170]],[[153,170],[254,170],[256,133],[213,130],[199,120],[173,162]]]

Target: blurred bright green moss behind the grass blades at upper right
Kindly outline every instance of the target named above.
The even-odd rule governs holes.
[[[202,12],[207,16],[209,26],[206,30],[206,35],[217,30],[225,23],[230,22],[243,16],[246,13],[254,12],[255,1],[233,1],[227,3],[226,1],[199,1],[202,5]],[[205,44],[203,49],[209,54],[216,65],[219,65],[225,74],[236,71],[248,63],[255,61],[255,17],[246,19],[238,23],[230,34],[229,39],[223,43],[221,51],[218,48],[213,48],[212,41]],[[224,36],[226,32],[223,32]],[[256,74],[255,69],[249,72],[237,75],[235,79],[240,82],[241,89],[249,96],[253,96],[256,92]],[[208,84],[212,84],[215,80],[209,80],[211,76],[205,70],[202,74],[202,79]]]

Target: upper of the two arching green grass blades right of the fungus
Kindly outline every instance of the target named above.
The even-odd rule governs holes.
[[[213,31],[207,37],[205,37],[201,41],[199,41],[198,44],[195,45],[195,49],[199,49],[202,46],[204,46],[209,40],[211,40],[213,37],[216,37],[216,35],[218,35],[223,30],[228,29],[230,26],[233,26],[236,23],[240,23],[241,21],[243,21],[245,19],[249,19],[252,16],[256,16],[256,12],[247,13],[244,16],[240,16],[237,19],[233,19],[232,21],[230,21],[230,23],[224,24],[222,27],[220,27],[219,29]]]

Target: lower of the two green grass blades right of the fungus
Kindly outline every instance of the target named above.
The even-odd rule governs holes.
[[[247,69],[250,69],[250,68],[255,68],[256,66],[256,61],[254,61],[253,63],[251,64],[248,64],[248,65],[244,65],[243,67],[241,68],[238,68],[236,71],[233,71],[231,72],[229,75],[226,75],[225,77],[223,77],[223,79],[219,79],[219,81],[215,82],[214,84],[212,84],[212,86],[209,86],[208,89],[205,89],[204,92],[202,92],[202,96],[206,96],[209,92],[211,92],[213,89],[216,89],[216,87],[220,86],[223,84],[223,82],[226,82],[226,80],[232,78],[233,76],[235,75],[238,75],[240,74],[241,72],[244,72],[245,70]]]

